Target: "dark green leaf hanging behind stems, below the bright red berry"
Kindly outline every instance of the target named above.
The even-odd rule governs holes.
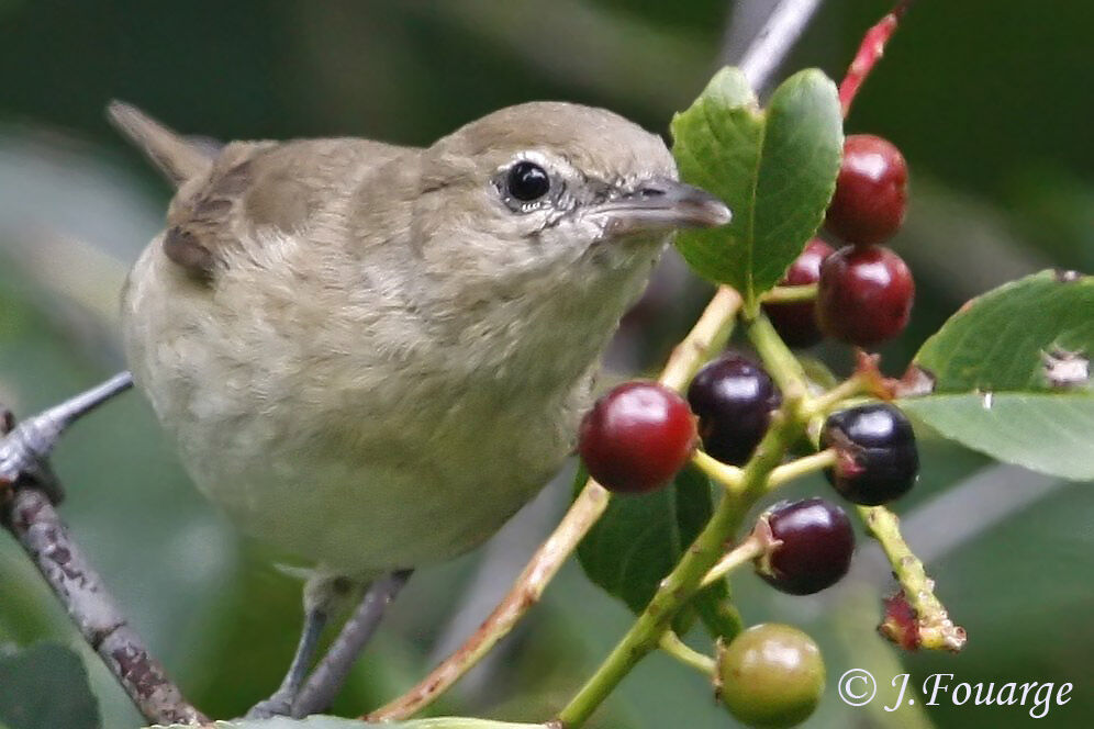
[[[578,560],[593,583],[640,613],[710,518],[710,481],[689,466],[659,491],[613,496]]]

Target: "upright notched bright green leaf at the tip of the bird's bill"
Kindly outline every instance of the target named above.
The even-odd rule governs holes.
[[[755,311],[824,220],[844,144],[836,85],[816,69],[790,77],[761,111],[740,70],[724,68],[672,120],[680,176],[721,198],[733,222],[684,231],[677,246],[702,276]]]

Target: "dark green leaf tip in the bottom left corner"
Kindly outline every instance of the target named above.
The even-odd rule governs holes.
[[[55,643],[0,655],[0,724],[10,729],[98,729],[99,705],[80,658]]]

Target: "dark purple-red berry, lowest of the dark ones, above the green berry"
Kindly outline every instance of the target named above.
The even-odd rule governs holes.
[[[782,543],[759,560],[757,572],[777,590],[812,595],[847,574],[855,530],[844,509],[807,498],[777,504],[766,518],[771,536]]]

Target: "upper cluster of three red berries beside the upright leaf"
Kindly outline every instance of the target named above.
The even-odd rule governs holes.
[[[904,222],[907,179],[892,143],[870,134],[847,137],[825,227],[850,245],[833,251],[814,238],[786,270],[784,285],[817,284],[815,305],[764,305],[789,345],[806,347],[827,335],[872,347],[904,330],[915,282],[901,257],[880,244]]]

